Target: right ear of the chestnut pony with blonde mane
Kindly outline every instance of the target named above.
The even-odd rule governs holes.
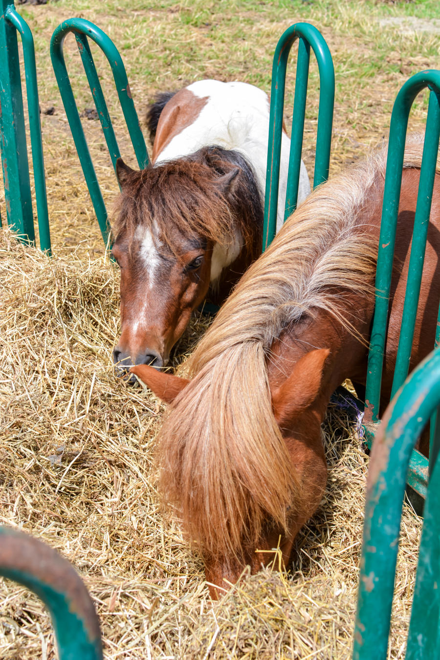
[[[272,392],[272,410],[278,426],[286,426],[294,414],[307,408],[319,395],[328,348],[316,348],[295,364],[292,373]]]

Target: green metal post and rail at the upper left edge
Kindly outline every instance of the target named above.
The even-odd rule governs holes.
[[[35,243],[28,149],[24,131],[20,62],[18,59],[17,32],[19,32],[24,55],[24,75],[28,97],[30,144],[34,164],[40,248],[50,254],[49,216],[47,213],[34,39],[28,24],[16,12],[14,3],[11,0],[0,0],[0,3],[0,150],[7,222],[11,229],[18,232],[22,240],[32,244]]]

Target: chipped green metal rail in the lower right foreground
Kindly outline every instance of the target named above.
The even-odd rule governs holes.
[[[400,519],[414,445],[440,404],[440,349],[398,390],[375,438],[367,479],[353,660],[386,660]],[[440,428],[431,446],[406,660],[440,657]]]

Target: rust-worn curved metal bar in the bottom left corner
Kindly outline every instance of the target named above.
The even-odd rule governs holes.
[[[0,527],[0,574],[24,585],[50,612],[60,660],[102,660],[99,619],[71,564],[45,543]]]

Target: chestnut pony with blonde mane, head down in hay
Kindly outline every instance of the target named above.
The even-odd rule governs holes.
[[[391,393],[423,137],[406,145],[383,374]],[[386,149],[319,186],[249,268],[191,356],[191,380],[132,372],[164,401],[160,489],[227,588],[278,539],[284,562],[327,480],[321,422],[346,378],[365,383]],[[440,298],[435,177],[411,368],[431,350]],[[263,552],[256,552],[261,550]],[[226,581],[225,581],[226,580]],[[217,589],[211,587],[212,595]]]

